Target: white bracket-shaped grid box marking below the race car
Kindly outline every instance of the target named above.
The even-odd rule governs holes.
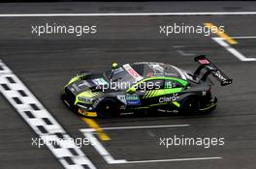
[[[143,126],[143,127],[102,127],[104,130],[112,129],[139,129],[139,128],[161,128],[161,127],[189,127],[189,125],[170,125],[170,126]],[[82,128],[80,129],[85,138],[88,138],[92,142],[92,146],[95,150],[102,155],[102,157],[109,164],[132,164],[132,163],[151,163],[151,162],[174,162],[174,161],[190,161],[190,160],[212,160],[221,159],[221,156],[212,157],[191,157],[191,158],[172,158],[172,159],[152,159],[152,160],[134,160],[128,161],[126,159],[114,159],[107,149],[101,144],[101,142],[94,136],[96,130],[94,128]]]

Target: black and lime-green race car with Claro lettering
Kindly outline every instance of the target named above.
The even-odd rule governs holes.
[[[194,72],[173,65],[138,62],[92,73],[81,71],[63,88],[61,99],[87,117],[113,117],[144,112],[196,114],[211,111],[217,99],[212,94],[211,74],[222,86],[232,83],[205,55],[195,57]]]

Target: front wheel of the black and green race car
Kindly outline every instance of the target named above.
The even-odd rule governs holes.
[[[118,116],[117,104],[113,99],[102,100],[97,108],[97,113],[100,118],[109,118]]]

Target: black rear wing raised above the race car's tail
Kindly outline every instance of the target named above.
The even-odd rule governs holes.
[[[202,70],[206,70],[201,77],[202,81],[206,81],[209,74],[212,74],[222,86],[229,85],[233,79],[229,78],[224,72],[219,70],[214,64],[212,64],[205,55],[195,57],[195,62],[198,62],[200,66],[194,72],[194,77],[198,77]]]

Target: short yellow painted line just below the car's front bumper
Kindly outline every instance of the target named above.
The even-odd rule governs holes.
[[[94,128],[101,140],[103,141],[111,140],[110,136],[107,133],[105,133],[103,131],[103,128],[101,128],[93,119],[81,118],[81,120],[85,122],[89,127]]]

